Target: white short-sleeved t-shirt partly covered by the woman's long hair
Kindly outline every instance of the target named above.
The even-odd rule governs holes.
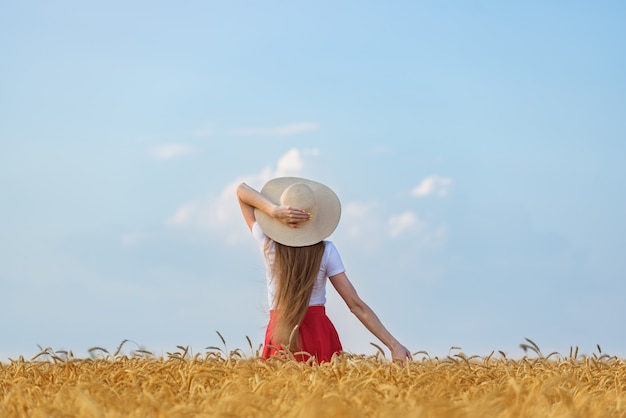
[[[265,254],[265,241],[269,239],[267,235],[261,230],[261,227],[256,222],[252,226],[252,236],[256,240],[259,249],[261,250],[261,254],[265,257],[265,282],[267,283],[267,302],[270,306],[270,309],[274,309],[274,299],[276,296],[276,280],[272,275],[272,271],[270,268],[271,263],[274,262],[274,248],[275,243],[271,239],[269,240],[269,254]],[[337,251],[337,248],[331,241],[324,241],[326,247],[324,249],[324,255],[322,255],[322,263],[320,265],[320,270],[317,274],[317,279],[315,279],[315,284],[313,285],[313,293],[311,294],[311,300],[309,301],[309,306],[311,305],[324,305],[326,303],[326,281],[329,277],[334,276],[335,274],[343,273],[345,268],[343,267],[343,262],[341,261],[341,256]]]

